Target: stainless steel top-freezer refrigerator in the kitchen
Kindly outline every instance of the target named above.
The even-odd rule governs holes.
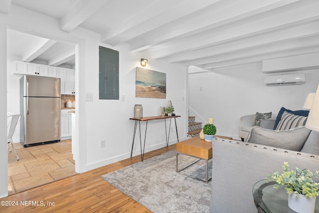
[[[20,137],[24,147],[60,141],[60,84],[60,78],[20,78]]]

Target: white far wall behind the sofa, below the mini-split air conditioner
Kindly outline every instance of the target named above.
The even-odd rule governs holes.
[[[302,109],[308,93],[316,92],[319,84],[318,69],[298,71],[306,73],[306,84],[292,86],[265,86],[264,77],[270,74],[264,74],[261,65],[192,72],[189,74],[189,114],[203,123],[213,117],[217,135],[234,139],[239,139],[241,116],[256,112],[277,114],[281,107]]]

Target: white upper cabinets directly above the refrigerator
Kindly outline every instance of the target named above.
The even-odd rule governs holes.
[[[56,67],[44,64],[14,61],[13,74],[39,75],[56,78]]]

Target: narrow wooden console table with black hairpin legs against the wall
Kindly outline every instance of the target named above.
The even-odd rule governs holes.
[[[174,118],[175,121],[175,128],[176,128],[176,135],[177,135],[177,142],[178,141],[178,133],[177,133],[177,125],[176,125],[176,118],[180,117],[180,115],[173,115],[173,116],[150,116],[150,117],[143,117],[143,118],[130,118],[130,120],[135,120],[135,126],[134,126],[134,134],[133,134],[133,143],[132,143],[132,151],[131,151],[131,158],[133,154],[133,147],[134,147],[134,141],[135,141],[135,135],[136,135],[136,129],[139,124],[139,131],[140,131],[140,144],[141,144],[141,158],[142,162],[144,160],[144,149],[145,149],[145,140],[146,140],[146,131],[148,129],[148,122],[151,120],[159,120],[159,119],[164,119],[165,122],[165,136],[166,136],[166,146],[168,146],[168,141],[169,141],[169,133],[170,133],[170,124],[171,124],[171,119]],[[167,128],[166,128],[166,118],[169,118],[169,129],[168,129],[168,137],[167,137]],[[143,152],[142,152],[142,139],[141,139],[141,121],[146,121],[146,127],[145,127],[145,137],[144,137],[144,145],[143,145]]]

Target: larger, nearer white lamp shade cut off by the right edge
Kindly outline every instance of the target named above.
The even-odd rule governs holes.
[[[306,128],[319,132],[319,86],[309,111]]]

